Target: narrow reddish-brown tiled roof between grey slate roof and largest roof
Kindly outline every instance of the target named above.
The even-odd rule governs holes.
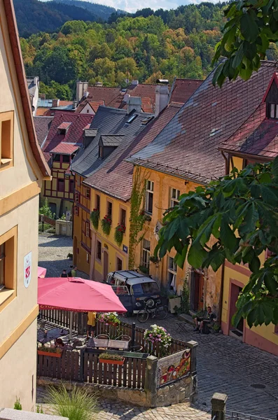
[[[125,159],[150,143],[169,123],[180,107],[181,105],[178,104],[170,104],[158,118],[154,118],[151,123],[148,123],[137,137],[131,141],[123,139],[122,144],[104,161],[102,167],[99,167],[84,183],[119,200],[125,202],[130,200],[134,166],[132,163],[126,162]],[[144,116],[146,118],[146,114]]]

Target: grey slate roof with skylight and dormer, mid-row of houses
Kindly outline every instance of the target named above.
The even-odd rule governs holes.
[[[137,116],[137,118],[132,123],[127,124],[127,120],[129,120],[131,115]],[[146,119],[146,116],[151,116],[151,114],[137,113],[135,111],[127,114],[123,109],[99,106],[91,124],[91,129],[97,129],[97,136],[95,139],[92,139],[86,148],[78,151],[76,158],[71,163],[71,169],[85,178],[93,174],[108,159],[102,160],[99,158],[100,137],[102,135],[122,135],[125,136],[123,144],[128,144],[144,130],[145,126],[142,124],[142,121]]]

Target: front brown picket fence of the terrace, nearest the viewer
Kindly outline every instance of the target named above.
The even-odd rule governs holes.
[[[64,351],[61,358],[38,355],[39,377],[144,388],[146,359],[126,357],[123,366],[99,363],[99,354]]]

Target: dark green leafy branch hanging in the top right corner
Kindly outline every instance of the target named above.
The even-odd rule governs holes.
[[[225,17],[228,22],[214,56],[214,63],[220,57],[227,57],[214,74],[213,83],[219,86],[225,78],[249,79],[260,68],[260,59],[265,59],[270,42],[278,41],[277,1],[232,1],[225,9]]]

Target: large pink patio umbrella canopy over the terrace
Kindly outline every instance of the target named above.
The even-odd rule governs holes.
[[[109,284],[78,277],[38,279],[40,309],[64,309],[77,312],[126,312]]]

